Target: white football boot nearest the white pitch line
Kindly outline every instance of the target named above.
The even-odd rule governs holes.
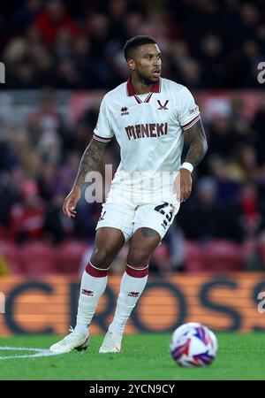
[[[49,347],[49,350],[52,353],[66,354],[71,352],[72,349],[77,349],[78,351],[87,349],[89,343],[89,333],[87,333],[87,336],[84,336],[83,334],[75,332],[72,327],[69,330],[71,333],[67,334],[63,340],[60,340]]]

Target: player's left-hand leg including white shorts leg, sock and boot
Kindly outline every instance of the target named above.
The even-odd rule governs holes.
[[[118,198],[118,202],[102,205],[96,226],[95,249],[81,280],[77,324],[72,333],[50,347],[53,352],[87,347],[88,326],[107,285],[110,263],[133,233],[134,205],[128,200],[122,202],[121,195]]]

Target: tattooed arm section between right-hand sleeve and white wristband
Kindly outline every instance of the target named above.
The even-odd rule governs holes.
[[[201,123],[201,119],[185,131],[185,137],[190,142],[190,148],[186,154],[185,162],[189,162],[195,167],[199,165],[203,157],[205,156],[208,144],[206,135]]]

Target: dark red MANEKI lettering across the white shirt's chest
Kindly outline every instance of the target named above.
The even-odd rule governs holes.
[[[129,140],[137,140],[138,138],[156,138],[167,135],[167,123],[147,123],[145,125],[135,125],[125,127],[125,131]]]

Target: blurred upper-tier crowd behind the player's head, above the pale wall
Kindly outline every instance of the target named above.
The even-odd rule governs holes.
[[[163,75],[190,88],[261,88],[262,0],[4,0],[0,59],[6,88],[113,88],[123,47],[149,34]]]

